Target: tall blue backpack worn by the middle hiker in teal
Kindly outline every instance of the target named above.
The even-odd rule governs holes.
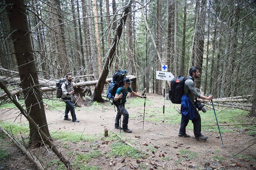
[[[117,88],[120,87],[120,84],[123,83],[126,73],[126,70],[118,70],[113,74],[112,80],[107,90],[107,101],[109,101],[111,105],[114,104],[115,93],[117,92]],[[110,100],[112,100],[112,102]]]

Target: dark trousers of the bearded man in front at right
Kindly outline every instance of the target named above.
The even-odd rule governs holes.
[[[194,135],[197,138],[200,135],[202,135],[201,134],[201,117],[195,105],[192,104],[192,106],[193,106],[193,109],[195,110],[195,117],[192,119],[192,123],[194,126]],[[189,119],[186,119],[184,116],[181,116],[179,134],[183,135],[186,133],[186,126],[188,125],[188,122],[189,122]]]

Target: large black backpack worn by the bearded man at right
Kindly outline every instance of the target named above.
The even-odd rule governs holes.
[[[169,88],[169,99],[171,100],[172,103],[175,103],[175,104],[181,103],[181,97],[183,96],[184,85],[187,79],[192,79],[192,78],[181,77],[179,75],[173,78],[173,80],[171,80],[171,85]]]

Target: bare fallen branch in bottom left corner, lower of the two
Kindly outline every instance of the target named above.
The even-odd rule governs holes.
[[[47,167],[44,165],[44,163],[39,160],[35,155],[33,155],[29,150],[27,150],[22,144],[20,144],[9,132],[7,132],[4,128],[0,127],[0,130],[2,130],[8,138],[12,140],[12,142],[17,145],[17,147],[20,148],[20,150],[31,160],[39,170],[47,170]]]

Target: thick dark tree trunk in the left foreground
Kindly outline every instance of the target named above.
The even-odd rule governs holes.
[[[39,88],[39,81],[34,62],[33,49],[29,33],[29,26],[26,15],[24,0],[6,0],[8,19],[14,41],[15,56],[18,64],[19,75],[22,89],[24,90],[25,105],[27,113],[41,127],[42,131],[49,137],[50,133],[47,126],[42,101],[42,92]],[[19,24],[17,24],[19,23]],[[41,137],[39,132],[29,123],[30,127],[30,144],[31,147],[39,147]]]

